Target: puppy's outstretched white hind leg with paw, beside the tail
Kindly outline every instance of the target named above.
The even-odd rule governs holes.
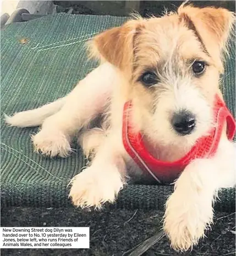
[[[47,156],[67,156],[72,136],[102,113],[114,82],[118,81],[116,77],[114,67],[104,63],[81,80],[67,95],[62,108],[48,117],[41,131],[32,136],[35,150]]]

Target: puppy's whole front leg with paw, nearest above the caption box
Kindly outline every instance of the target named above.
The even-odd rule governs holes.
[[[114,202],[125,184],[125,162],[116,143],[106,137],[98,148],[90,167],[77,174],[70,184],[70,198],[75,206],[100,208],[105,202]]]

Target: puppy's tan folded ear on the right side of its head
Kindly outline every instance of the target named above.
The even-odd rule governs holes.
[[[234,13],[224,8],[182,5],[178,14],[190,29],[195,30],[211,57],[221,62],[222,53],[227,51],[227,41],[235,23]]]

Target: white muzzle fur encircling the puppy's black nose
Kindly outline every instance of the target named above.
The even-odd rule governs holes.
[[[188,152],[197,138],[207,134],[212,124],[212,108],[188,76],[181,78],[169,74],[168,79],[157,86],[162,86],[163,89],[157,94],[153,127],[150,127],[154,134],[153,139],[159,141],[163,147],[179,145],[181,149],[184,143],[185,152]],[[190,111],[197,121],[194,132],[184,137],[174,132],[170,121],[172,115],[180,110]]]

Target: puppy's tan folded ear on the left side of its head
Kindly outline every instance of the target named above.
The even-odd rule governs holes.
[[[135,36],[142,26],[142,20],[130,20],[122,26],[112,28],[95,36],[90,44],[90,56],[108,61],[120,70],[131,72]]]

